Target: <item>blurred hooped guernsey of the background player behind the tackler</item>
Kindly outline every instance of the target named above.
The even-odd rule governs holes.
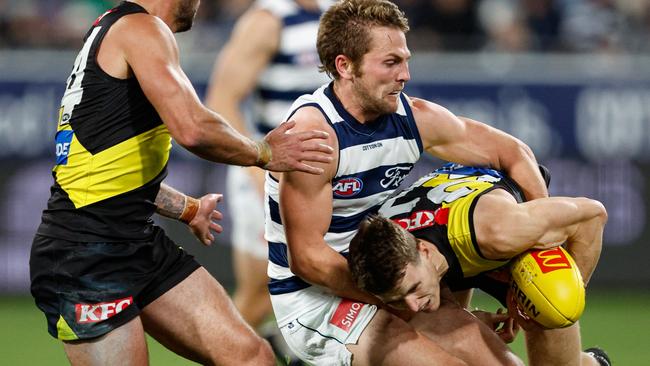
[[[253,121],[265,135],[277,127],[291,104],[303,94],[329,81],[318,71],[316,50],[318,21],[333,0],[318,0],[318,11],[307,11],[294,0],[257,0],[255,5],[282,20],[280,44],[275,56],[260,75],[253,96]]]

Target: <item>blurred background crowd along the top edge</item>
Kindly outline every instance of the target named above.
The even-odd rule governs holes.
[[[77,48],[118,1],[0,0],[0,48]],[[189,47],[216,51],[252,0],[204,0]],[[647,0],[399,0],[415,51],[650,52]]]

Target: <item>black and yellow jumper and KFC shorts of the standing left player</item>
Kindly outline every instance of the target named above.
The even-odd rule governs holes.
[[[123,3],[95,22],[59,110],[54,184],[31,268],[48,330],[62,340],[120,326],[199,267],[151,220],[167,175],[167,127],[136,78],[116,79],[97,63],[110,27],[139,12]]]

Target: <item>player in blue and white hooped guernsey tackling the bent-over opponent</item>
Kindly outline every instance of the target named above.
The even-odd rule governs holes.
[[[389,1],[344,0],[321,17],[317,47],[334,81],[293,104],[294,130],[330,133],[322,176],[267,175],[269,290],[294,352],[319,365],[521,364],[486,324],[448,301],[405,321],[352,280],[345,256],[427,151],[505,171],[527,199],[547,196],[531,150],[486,124],[403,93],[407,20]]]

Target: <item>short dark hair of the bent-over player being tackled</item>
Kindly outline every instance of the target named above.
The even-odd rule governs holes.
[[[406,265],[418,263],[417,240],[391,220],[372,215],[350,242],[348,265],[357,287],[381,295],[395,289]]]

